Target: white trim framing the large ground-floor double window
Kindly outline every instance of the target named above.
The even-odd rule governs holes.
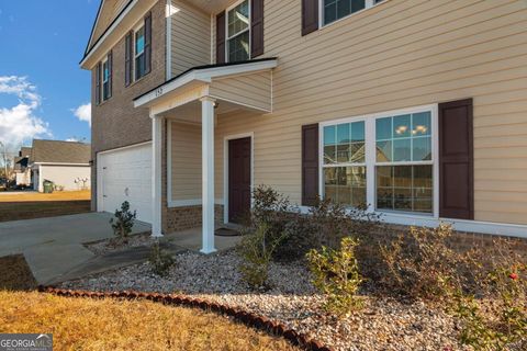
[[[433,165],[433,213],[418,213],[418,212],[399,212],[399,211],[377,211],[377,196],[375,196],[375,167],[382,166],[377,163],[375,157],[375,120],[382,117],[390,117],[401,114],[410,114],[429,111],[431,114],[431,161],[411,161],[411,162],[397,162],[396,166],[406,165]],[[366,137],[366,199],[369,205],[368,212],[378,213],[390,217],[416,217],[416,218],[439,218],[439,123],[438,123],[438,105],[422,105],[408,109],[383,111],[379,113],[366,114],[360,116],[344,117],[338,120],[325,121],[319,123],[318,127],[318,193],[321,197],[324,197],[324,127],[341,124],[365,121],[365,137]],[[386,163],[388,165],[388,163]],[[345,166],[345,163],[338,165]],[[394,163],[390,162],[390,166]]]

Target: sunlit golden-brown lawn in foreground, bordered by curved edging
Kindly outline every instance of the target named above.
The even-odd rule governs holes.
[[[148,301],[0,292],[0,326],[51,332],[56,350],[299,350],[214,314]]]

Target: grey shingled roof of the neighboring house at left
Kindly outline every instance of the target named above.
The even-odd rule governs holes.
[[[90,144],[59,140],[33,140],[31,163],[89,163]]]

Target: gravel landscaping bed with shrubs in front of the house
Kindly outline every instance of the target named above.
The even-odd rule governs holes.
[[[526,350],[526,242],[478,241],[448,225],[388,226],[330,201],[294,214],[266,188],[254,199],[235,250],[170,257],[157,249],[148,262],[60,287],[190,295],[337,351]]]

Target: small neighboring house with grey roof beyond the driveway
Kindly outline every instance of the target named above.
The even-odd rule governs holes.
[[[90,189],[90,144],[34,139],[29,158],[33,189],[43,192],[46,180],[66,191]]]

